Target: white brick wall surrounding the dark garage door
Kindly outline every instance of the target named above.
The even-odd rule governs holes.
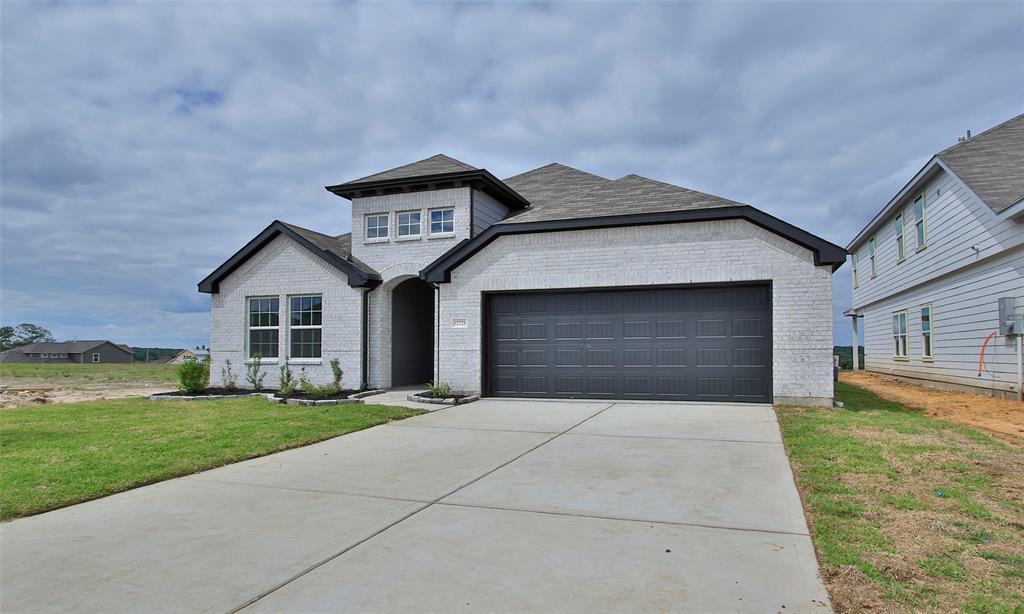
[[[479,392],[484,292],[761,280],[772,283],[775,402],[830,404],[830,267],[741,220],[498,238],[440,286],[439,379]]]

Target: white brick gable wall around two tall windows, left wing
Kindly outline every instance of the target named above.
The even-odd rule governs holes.
[[[289,359],[288,298],[318,294],[323,297],[322,357]],[[315,384],[332,380],[330,360],[338,358],[344,370],[342,385],[358,388],[361,382],[361,299],[362,291],[350,288],[338,269],[310,254],[287,236],[278,236],[259,254],[220,282],[220,292],[212,296],[210,385],[222,386],[221,369],[231,361],[236,383],[248,387],[245,380],[248,352],[248,298],[278,297],[281,327],[278,333],[278,359],[264,359],[266,378],[263,386],[276,388],[279,367],[288,360],[293,375],[305,368]]]

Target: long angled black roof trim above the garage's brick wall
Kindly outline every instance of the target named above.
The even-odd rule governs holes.
[[[433,283],[452,281],[453,269],[472,258],[473,255],[486,247],[490,242],[506,234],[591,230],[618,226],[649,226],[655,224],[734,219],[746,220],[752,224],[761,226],[765,230],[807,248],[814,254],[815,266],[831,265],[835,271],[846,262],[847,252],[843,248],[815,236],[806,230],[801,230],[749,205],[740,205],[736,207],[709,207],[707,209],[689,209],[686,211],[662,213],[638,213],[567,220],[495,224],[480,234],[477,234],[474,238],[463,240],[441,255],[440,258],[427,265],[426,268],[420,271],[420,278]]]

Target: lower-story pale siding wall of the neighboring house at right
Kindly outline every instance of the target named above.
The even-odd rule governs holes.
[[[998,328],[996,299],[1017,297],[1024,303],[1024,248],[1017,248],[961,269],[914,290],[872,303],[864,310],[863,337],[867,370],[972,386],[1016,390],[1016,339],[996,336],[978,358],[985,337]],[[922,357],[921,306],[931,304],[932,360]],[[893,313],[907,310],[907,358],[893,356]]]

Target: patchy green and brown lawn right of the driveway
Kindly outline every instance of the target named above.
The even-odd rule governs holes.
[[[1024,450],[836,385],[779,407],[839,612],[1024,612]]]

